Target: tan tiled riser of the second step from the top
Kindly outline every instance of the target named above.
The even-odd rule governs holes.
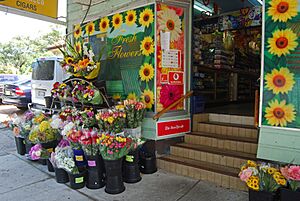
[[[257,129],[238,128],[231,126],[219,126],[205,123],[198,123],[196,132],[216,133],[224,136],[248,137],[257,139]]]

